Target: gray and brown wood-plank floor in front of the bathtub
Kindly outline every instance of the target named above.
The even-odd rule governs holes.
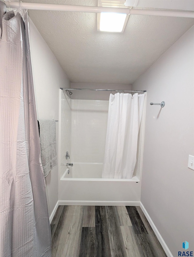
[[[167,257],[140,207],[59,206],[52,257]]]

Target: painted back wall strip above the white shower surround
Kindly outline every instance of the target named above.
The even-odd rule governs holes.
[[[71,88],[89,88],[89,89],[125,89],[131,90],[131,85],[125,84],[98,84],[98,83],[71,83]],[[88,100],[109,100],[110,91],[84,91],[72,90],[72,99]],[[113,92],[114,93],[114,92]]]

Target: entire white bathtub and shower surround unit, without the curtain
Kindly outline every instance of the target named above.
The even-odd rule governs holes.
[[[63,145],[60,155],[59,204],[139,205],[145,108],[139,129],[133,177],[105,179],[102,178],[102,163],[109,102],[70,99],[62,90],[60,97],[62,105],[59,125]],[[67,160],[66,151],[70,154]],[[73,167],[66,166],[66,163],[73,163]]]

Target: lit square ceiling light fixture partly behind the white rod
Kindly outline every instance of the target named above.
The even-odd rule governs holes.
[[[99,0],[98,6],[102,7],[120,7],[128,8],[125,6],[125,1],[105,1]],[[120,32],[125,30],[125,26],[129,19],[129,15],[115,12],[102,12],[98,13],[98,26],[97,31],[106,32]]]

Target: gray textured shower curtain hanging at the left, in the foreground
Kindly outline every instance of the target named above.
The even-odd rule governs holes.
[[[51,257],[28,16],[0,1],[0,257]]]

